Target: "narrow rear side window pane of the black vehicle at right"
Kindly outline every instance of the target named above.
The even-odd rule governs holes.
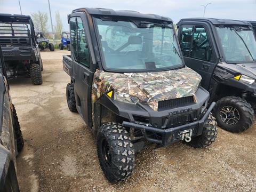
[[[193,39],[193,26],[182,26],[180,35],[180,48],[184,57],[189,57]]]

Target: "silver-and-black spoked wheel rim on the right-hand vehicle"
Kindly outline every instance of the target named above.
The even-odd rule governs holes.
[[[232,106],[225,106],[220,109],[220,119],[228,125],[235,125],[240,120],[239,111]]]

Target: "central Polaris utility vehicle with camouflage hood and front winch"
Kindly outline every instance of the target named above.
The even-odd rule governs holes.
[[[134,152],[147,142],[211,145],[217,135],[215,103],[207,106],[201,76],[185,66],[170,18],[84,8],[68,15],[68,23],[68,107],[97,135],[109,181],[132,174]]]

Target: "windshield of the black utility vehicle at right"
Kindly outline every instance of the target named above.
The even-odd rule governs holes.
[[[256,40],[249,27],[216,27],[226,62],[256,61]]]

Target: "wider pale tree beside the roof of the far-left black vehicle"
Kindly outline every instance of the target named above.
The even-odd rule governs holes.
[[[45,33],[47,31],[47,21],[48,21],[47,13],[38,11],[37,13],[31,13],[31,17],[34,22],[35,29],[39,31],[43,31],[43,33]]]

